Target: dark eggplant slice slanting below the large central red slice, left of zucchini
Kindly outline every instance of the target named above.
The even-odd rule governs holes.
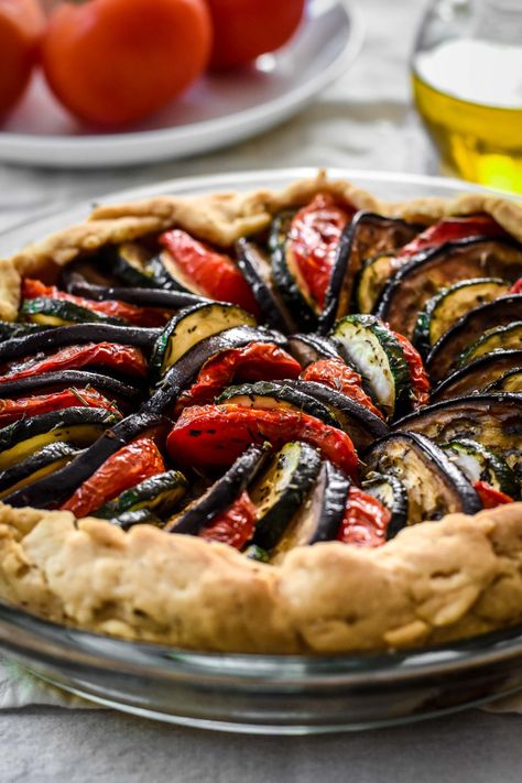
[[[200,498],[165,526],[168,533],[197,535],[218,514],[226,511],[257,476],[269,455],[268,446],[250,446]]]

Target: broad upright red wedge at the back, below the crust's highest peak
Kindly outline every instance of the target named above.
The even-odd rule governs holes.
[[[318,194],[294,216],[290,250],[314,302],[323,308],[342,229],[355,209],[338,206],[329,194]]]

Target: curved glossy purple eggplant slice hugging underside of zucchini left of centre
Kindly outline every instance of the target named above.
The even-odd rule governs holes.
[[[145,403],[149,411],[159,413],[175,403],[180,394],[196,378],[203,365],[221,351],[242,348],[249,342],[273,342],[287,348],[287,340],[279,333],[262,327],[233,326],[207,337],[184,354],[162,378],[151,399]]]

